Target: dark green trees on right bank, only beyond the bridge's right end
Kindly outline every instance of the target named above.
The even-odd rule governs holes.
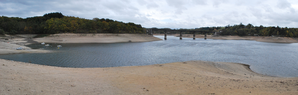
[[[221,35],[231,36],[284,36],[284,37],[298,37],[298,28],[281,28],[279,26],[264,27],[253,26],[252,24],[243,25],[227,25],[222,31]]]

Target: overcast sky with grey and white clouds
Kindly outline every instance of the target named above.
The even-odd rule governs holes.
[[[298,0],[0,0],[0,15],[43,16],[61,12],[86,19],[108,18],[145,28],[235,25],[298,28]]]

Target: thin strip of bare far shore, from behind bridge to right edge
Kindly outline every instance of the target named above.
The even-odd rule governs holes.
[[[154,34],[154,35],[161,35],[164,34]],[[177,36],[179,37],[180,34],[167,34],[167,36]],[[193,38],[193,35],[183,34],[183,38]],[[204,35],[195,35],[195,38],[205,38]],[[289,37],[263,37],[263,36],[216,36],[213,37],[212,35],[207,35],[207,39],[222,39],[222,40],[254,40],[260,42],[275,42],[275,43],[298,43],[297,38],[289,38]]]

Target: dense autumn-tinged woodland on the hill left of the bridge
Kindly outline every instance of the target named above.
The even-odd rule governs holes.
[[[9,34],[57,34],[57,33],[146,33],[141,25],[110,19],[92,20],[49,13],[44,16],[0,17],[0,35]]]

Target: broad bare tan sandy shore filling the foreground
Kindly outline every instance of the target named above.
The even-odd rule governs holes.
[[[66,68],[0,59],[0,94],[296,95],[298,78],[252,72],[248,65],[187,61],[167,64]]]

